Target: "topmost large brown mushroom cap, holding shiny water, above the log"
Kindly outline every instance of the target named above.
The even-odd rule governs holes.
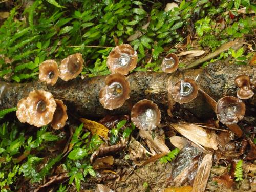
[[[137,65],[138,55],[129,44],[116,46],[109,54],[106,65],[112,73],[127,75]]]

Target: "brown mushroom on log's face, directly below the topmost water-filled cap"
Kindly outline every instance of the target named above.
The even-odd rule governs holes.
[[[113,110],[130,98],[130,83],[120,73],[105,78],[106,86],[99,91],[99,101],[105,109]]]

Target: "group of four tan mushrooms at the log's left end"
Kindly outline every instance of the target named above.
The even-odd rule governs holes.
[[[59,67],[55,60],[46,60],[39,66],[39,80],[54,86],[58,77],[64,81],[74,79],[81,73],[83,63],[80,53],[63,59]],[[67,106],[44,90],[33,90],[27,97],[20,99],[16,116],[20,122],[37,127],[50,124],[53,129],[61,129],[68,119]]]

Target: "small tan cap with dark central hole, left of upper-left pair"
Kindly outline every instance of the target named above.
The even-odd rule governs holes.
[[[39,80],[53,86],[59,77],[58,64],[55,60],[46,60],[39,66]]]

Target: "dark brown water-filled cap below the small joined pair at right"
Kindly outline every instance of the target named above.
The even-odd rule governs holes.
[[[239,98],[225,96],[218,100],[215,113],[219,121],[223,124],[234,124],[243,119],[245,104]]]

